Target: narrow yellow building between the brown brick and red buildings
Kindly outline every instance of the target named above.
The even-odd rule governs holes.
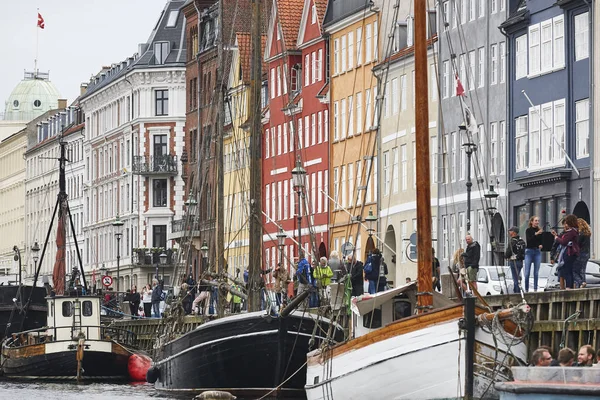
[[[225,259],[227,272],[236,276],[248,266],[250,185],[250,132],[247,126],[250,99],[250,34],[236,33],[225,101],[223,138]],[[264,42],[264,38],[263,38]],[[264,43],[263,43],[264,44]]]

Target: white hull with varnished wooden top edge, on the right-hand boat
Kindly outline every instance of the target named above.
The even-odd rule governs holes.
[[[417,400],[463,396],[466,336],[459,328],[462,315],[462,306],[456,306],[406,318],[326,354],[309,354],[308,399]],[[494,370],[497,363],[503,362],[506,367],[500,369],[508,370],[516,360],[506,356],[506,348],[500,343],[496,355],[491,335],[481,329],[475,339],[475,398],[486,390],[485,398],[497,397],[493,381],[486,378],[486,369]],[[511,352],[525,359],[526,346],[514,346]],[[486,368],[482,369],[482,365]],[[506,379],[498,376],[498,368],[494,371],[494,379]]]

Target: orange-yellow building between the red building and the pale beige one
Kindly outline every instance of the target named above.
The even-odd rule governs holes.
[[[352,3],[352,4],[351,4]],[[330,46],[330,247],[350,242],[366,258],[364,221],[377,212],[377,79],[379,17],[355,2],[328,10],[324,27]],[[364,2],[363,2],[364,3]],[[353,11],[348,13],[348,11]]]

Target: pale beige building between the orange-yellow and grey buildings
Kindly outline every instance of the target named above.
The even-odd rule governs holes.
[[[399,25],[398,38],[407,37],[408,26]],[[404,32],[402,32],[404,30]],[[437,238],[437,131],[438,86],[434,46],[437,36],[429,41],[429,150],[431,166],[432,237]],[[415,146],[415,65],[412,41],[398,43],[394,53],[383,60],[375,73],[380,77],[385,96],[381,105],[379,129],[380,201],[378,222],[383,256],[388,265],[388,281],[396,285],[417,277],[416,257],[412,259],[409,238],[417,231],[417,186]],[[384,84],[385,80],[385,84]],[[435,242],[434,242],[435,245]],[[416,250],[416,249],[415,249]],[[394,256],[395,255],[395,256]]]

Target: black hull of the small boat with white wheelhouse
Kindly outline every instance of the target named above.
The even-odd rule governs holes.
[[[75,342],[35,344],[2,349],[2,371],[6,378],[25,380],[77,379]],[[83,380],[127,380],[130,353],[117,343],[87,341],[96,350],[84,350]],[[58,350],[58,347],[71,349]]]

